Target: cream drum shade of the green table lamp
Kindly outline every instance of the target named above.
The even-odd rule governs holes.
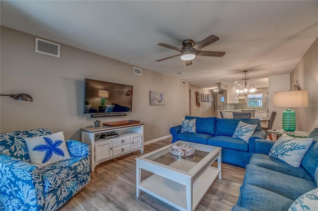
[[[274,92],[274,107],[307,107],[308,91]]]

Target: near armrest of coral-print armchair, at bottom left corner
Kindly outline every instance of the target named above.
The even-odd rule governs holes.
[[[37,166],[0,155],[0,188],[4,210],[44,210],[43,182]]]

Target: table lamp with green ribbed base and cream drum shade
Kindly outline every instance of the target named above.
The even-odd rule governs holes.
[[[296,113],[292,107],[307,107],[308,91],[274,92],[274,107],[285,107],[283,112],[283,129],[287,134],[296,130]]]

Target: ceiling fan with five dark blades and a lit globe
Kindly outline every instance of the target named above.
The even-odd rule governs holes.
[[[169,58],[174,58],[177,56],[181,56],[182,60],[185,60],[185,65],[191,65],[192,64],[192,59],[195,58],[195,56],[197,55],[203,55],[203,56],[224,56],[225,52],[207,52],[207,51],[199,51],[200,49],[214,43],[215,41],[218,41],[219,38],[215,35],[211,35],[209,37],[207,37],[206,39],[202,40],[201,42],[197,43],[194,45],[193,40],[184,40],[182,42],[182,49],[173,47],[173,46],[169,46],[167,44],[163,44],[163,43],[159,43],[159,46],[168,48],[168,49],[172,49],[178,52],[181,52],[180,54],[177,55],[173,55],[173,56],[169,56],[166,58],[162,58],[159,59],[157,61],[163,61],[165,59],[169,59]],[[193,46],[194,45],[194,46]]]

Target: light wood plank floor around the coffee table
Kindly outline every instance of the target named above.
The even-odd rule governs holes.
[[[168,138],[146,145],[144,154],[170,143]],[[135,158],[141,155],[136,151],[97,165],[90,182],[61,211],[176,211],[143,191],[136,197]],[[230,211],[237,203],[244,171],[244,168],[222,163],[222,179],[215,180],[196,211]],[[150,175],[143,170],[142,180]]]

